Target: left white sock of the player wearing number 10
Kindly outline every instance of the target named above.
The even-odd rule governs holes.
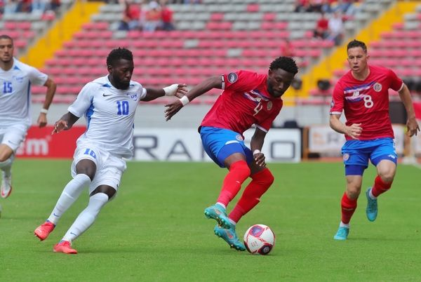
[[[91,184],[91,178],[86,174],[78,174],[72,180],[67,183],[65,189],[63,189],[60,198],[58,199],[53,212],[50,217],[48,217],[49,222],[57,224],[60,217],[65,213],[65,211],[72,206],[74,201],[79,198],[83,188]]]

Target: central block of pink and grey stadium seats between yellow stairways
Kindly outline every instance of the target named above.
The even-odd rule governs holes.
[[[69,102],[83,83],[104,74],[105,55],[119,46],[133,51],[135,79],[149,87],[177,81],[194,85],[236,69],[267,72],[269,63],[283,55],[286,39],[302,71],[333,48],[331,41],[310,40],[320,15],[293,13],[294,0],[278,5],[272,0],[213,0],[169,7],[176,27],[172,32],[117,30],[123,6],[100,7],[100,13],[46,62],[44,71],[60,83],[55,101]],[[37,93],[43,92],[34,88],[34,99]],[[195,102],[213,102],[218,93]]]

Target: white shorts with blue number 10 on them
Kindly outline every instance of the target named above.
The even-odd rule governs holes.
[[[76,175],[76,164],[82,159],[89,159],[96,165],[96,173],[89,187],[89,194],[100,185],[111,186],[116,191],[119,189],[121,175],[126,170],[126,161],[123,161],[118,156],[109,154],[109,152],[100,149],[100,147],[79,142],[76,151],[74,151],[72,177]]]

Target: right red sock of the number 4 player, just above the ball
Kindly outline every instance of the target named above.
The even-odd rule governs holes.
[[[241,199],[229,214],[229,219],[239,222],[241,217],[254,208],[259,202],[260,197],[265,194],[270,185],[274,182],[274,175],[268,168],[251,175],[252,181],[244,189]]]

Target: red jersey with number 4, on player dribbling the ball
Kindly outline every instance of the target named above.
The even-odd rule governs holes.
[[[226,128],[243,134],[253,124],[267,132],[281,111],[281,98],[267,92],[267,74],[240,70],[222,75],[224,91],[201,126]]]

